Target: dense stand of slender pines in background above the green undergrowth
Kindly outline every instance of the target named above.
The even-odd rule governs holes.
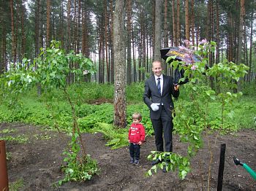
[[[24,57],[33,60],[40,47],[48,47],[55,39],[67,52],[82,52],[94,61],[97,73],[92,81],[113,83],[115,5],[112,0],[1,1],[0,72]],[[157,20],[156,7],[162,10]],[[125,1],[122,11],[128,84],[143,81],[151,72],[151,61],[159,54],[154,50],[154,31],[161,33],[160,47],[183,45],[184,39],[195,47],[202,39],[217,42],[210,65],[226,58],[244,63],[250,68],[245,80],[251,82],[255,78],[255,9],[253,0]],[[73,81],[70,76],[69,82]]]

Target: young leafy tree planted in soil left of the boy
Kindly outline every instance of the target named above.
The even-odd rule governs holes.
[[[78,69],[71,68],[71,63],[77,63]],[[34,70],[35,64],[37,64],[37,70]],[[23,58],[22,63],[12,65],[10,70],[0,78],[4,94],[12,95],[11,97],[15,100],[20,93],[25,93],[38,84],[44,93],[50,93],[56,89],[64,93],[72,111],[72,137],[69,147],[64,151],[65,164],[62,170],[65,177],[60,180],[59,184],[69,181],[85,181],[91,179],[91,176],[98,172],[97,163],[87,155],[86,145],[81,138],[75,101],[72,100],[68,90],[67,77],[70,73],[74,74],[78,81],[83,79],[84,74],[93,74],[92,61],[83,57],[82,54],[75,54],[74,51],[66,53],[60,48],[59,42],[52,41],[50,47],[42,49],[33,62]],[[55,98],[50,96],[48,99]],[[15,100],[12,103],[15,104],[17,102]],[[46,100],[46,102],[48,101],[51,100]],[[59,125],[57,123],[54,125],[59,130]]]

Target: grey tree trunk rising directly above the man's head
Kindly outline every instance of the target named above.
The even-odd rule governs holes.
[[[154,61],[161,61],[161,38],[162,38],[162,1],[161,0],[155,0],[156,7],[155,7],[155,20],[156,20],[156,26],[154,30],[155,34],[155,44],[154,44]]]

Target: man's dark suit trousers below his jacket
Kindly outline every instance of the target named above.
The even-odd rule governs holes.
[[[162,137],[162,133],[164,133],[165,152],[173,152],[173,120],[170,116],[167,115],[163,106],[160,112],[161,117],[159,118],[159,120],[151,119],[154,128],[157,151],[164,151],[164,141]]]

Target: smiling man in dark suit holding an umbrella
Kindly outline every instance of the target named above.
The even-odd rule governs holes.
[[[173,152],[173,117],[174,109],[172,96],[178,98],[178,85],[174,85],[173,77],[162,74],[161,61],[152,63],[152,75],[145,82],[143,100],[150,109],[150,118],[154,128],[157,151],[164,151],[162,133],[165,138],[165,152]],[[155,165],[161,161],[153,161]]]

